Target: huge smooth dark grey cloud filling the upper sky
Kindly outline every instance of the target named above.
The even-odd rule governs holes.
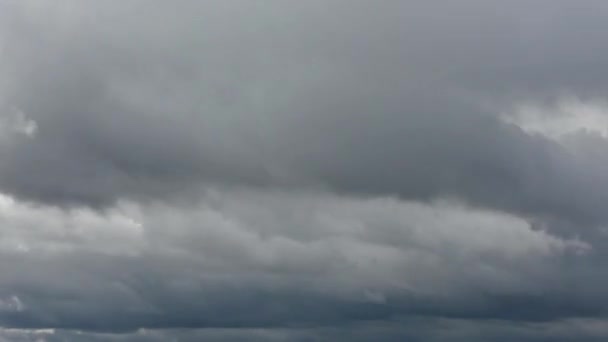
[[[307,184],[602,222],[594,160],[498,118],[603,89],[607,6],[541,4],[5,3],[3,102],[39,129],[0,184],[92,205]]]

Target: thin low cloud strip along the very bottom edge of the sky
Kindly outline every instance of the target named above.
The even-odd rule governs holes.
[[[0,336],[8,341],[445,341],[451,338],[493,341],[603,341],[604,320],[563,320],[552,323],[513,324],[504,321],[471,322],[468,320],[416,317],[388,323],[350,325],[348,331],[332,328],[287,329],[140,329],[131,333],[93,333],[70,330],[6,329]]]

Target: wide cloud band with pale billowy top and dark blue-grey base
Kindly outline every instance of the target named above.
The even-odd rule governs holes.
[[[569,317],[540,293],[559,292],[554,260],[591,253],[452,203],[257,190],[105,213],[1,202],[0,322],[23,329],[324,326],[434,310],[515,318],[500,308],[530,302],[539,319]],[[562,305],[589,314],[571,302],[580,295]]]

